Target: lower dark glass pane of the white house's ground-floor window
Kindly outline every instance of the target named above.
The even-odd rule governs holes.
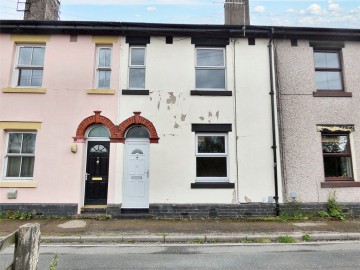
[[[226,157],[197,157],[197,177],[227,177]]]

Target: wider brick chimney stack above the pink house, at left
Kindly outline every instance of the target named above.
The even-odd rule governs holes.
[[[24,20],[58,21],[60,0],[26,0]]]

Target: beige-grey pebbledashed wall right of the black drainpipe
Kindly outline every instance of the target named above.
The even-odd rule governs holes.
[[[345,90],[352,97],[313,97],[315,68],[309,41],[299,40],[297,47],[289,40],[277,41],[276,46],[285,196],[296,192],[301,202],[325,202],[329,192],[336,190],[339,201],[359,202],[358,187],[321,188],[325,176],[321,133],[316,131],[318,124],[354,125],[350,134],[353,173],[355,181],[360,181],[359,43],[345,42],[342,49]]]

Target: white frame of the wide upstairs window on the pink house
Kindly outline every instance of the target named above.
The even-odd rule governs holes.
[[[44,63],[42,66],[33,66],[33,65],[19,65],[20,60],[20,49],[21,48],[44,48]],[[43,84],[44,79],[44,65],[45,65],[45,48],[44,44],[17,44],[16,45],[16,57],[15,57],[15,65],[14,65],[14,72],[13,72],[13,86],[19,88],[38,88],[41,87]],[[20,82],[20,70],[21,69],[31,69],[31,70],[42,70],[43,76],[41,78],[40,86],[23,86],[19,85]]]

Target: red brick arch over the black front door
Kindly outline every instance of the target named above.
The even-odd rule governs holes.
[[[107,117],[100,115],[101,111],[94,111],[94,113],[95,113],[95,115],[85,118],[80,123],[80,125],[78,126],[78,128],[76,130],[76,136],[74,137],[74,142],[84,142],[86,130],[91,125],[95,125],[95,124],[102,124],[109,129],[110,142],[118,141],[118,130],[117,130],[116,125],[114,125],[114,123],[111,122],[111,120],[108,119]]]

